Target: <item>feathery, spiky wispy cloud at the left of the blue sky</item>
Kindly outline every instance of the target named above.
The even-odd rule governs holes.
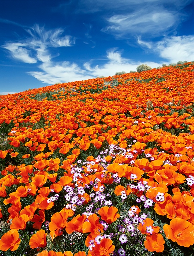
[[[2,48],[9,50],[12,58],[25,63],[49,62],[52,58],[49,47],[69,47],[75,44],[74,37],[62,36],[64,30],[61,28],[45,30],[44,27],[36,24],[26,31],[31,37],[20,40],[20,42],[7,42],[2,45]]]

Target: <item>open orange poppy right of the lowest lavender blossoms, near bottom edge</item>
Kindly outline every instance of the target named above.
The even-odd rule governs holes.
[[[150,252],[163,252],[164,243],[165,241],[161,234],[148,235],[144,241],[145,248]]]

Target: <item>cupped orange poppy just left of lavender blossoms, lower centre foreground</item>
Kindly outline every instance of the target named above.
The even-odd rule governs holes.
[[[104,206],[98,210],[98,214],[101,216],[102,220],[105,220],[108,224],[111,224],[120,217],[120,214],[118,214],[117,211],[118,209],[114,206]]]

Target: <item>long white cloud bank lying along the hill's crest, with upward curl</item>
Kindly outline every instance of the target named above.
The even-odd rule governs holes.
[[[106,53],[105,64],[92,66],[91,62],[86,62],[84,67],[79,67],[76,63],[68,61],[62,63],[48,62],[42,63],[39,68],[41,71],[29,72],[30,75],[44,83],[55,84],[57,82],[72,82],[87,80],[100,76],[113,76],[118,71],[129,73],[130,70],[136,71],[136,67],[141,62],[134,62],[121,57],[121,53],[116,49],[110,49]],[[161,63],[146,62],[152,68],[161,66]]]

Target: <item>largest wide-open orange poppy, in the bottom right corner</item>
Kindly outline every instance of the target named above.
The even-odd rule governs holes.
[[[170,225],[165,224],[163,229],[166,237],[180,246],[189,247],[194,244],[194,226],[186,220],[172,219]]]

